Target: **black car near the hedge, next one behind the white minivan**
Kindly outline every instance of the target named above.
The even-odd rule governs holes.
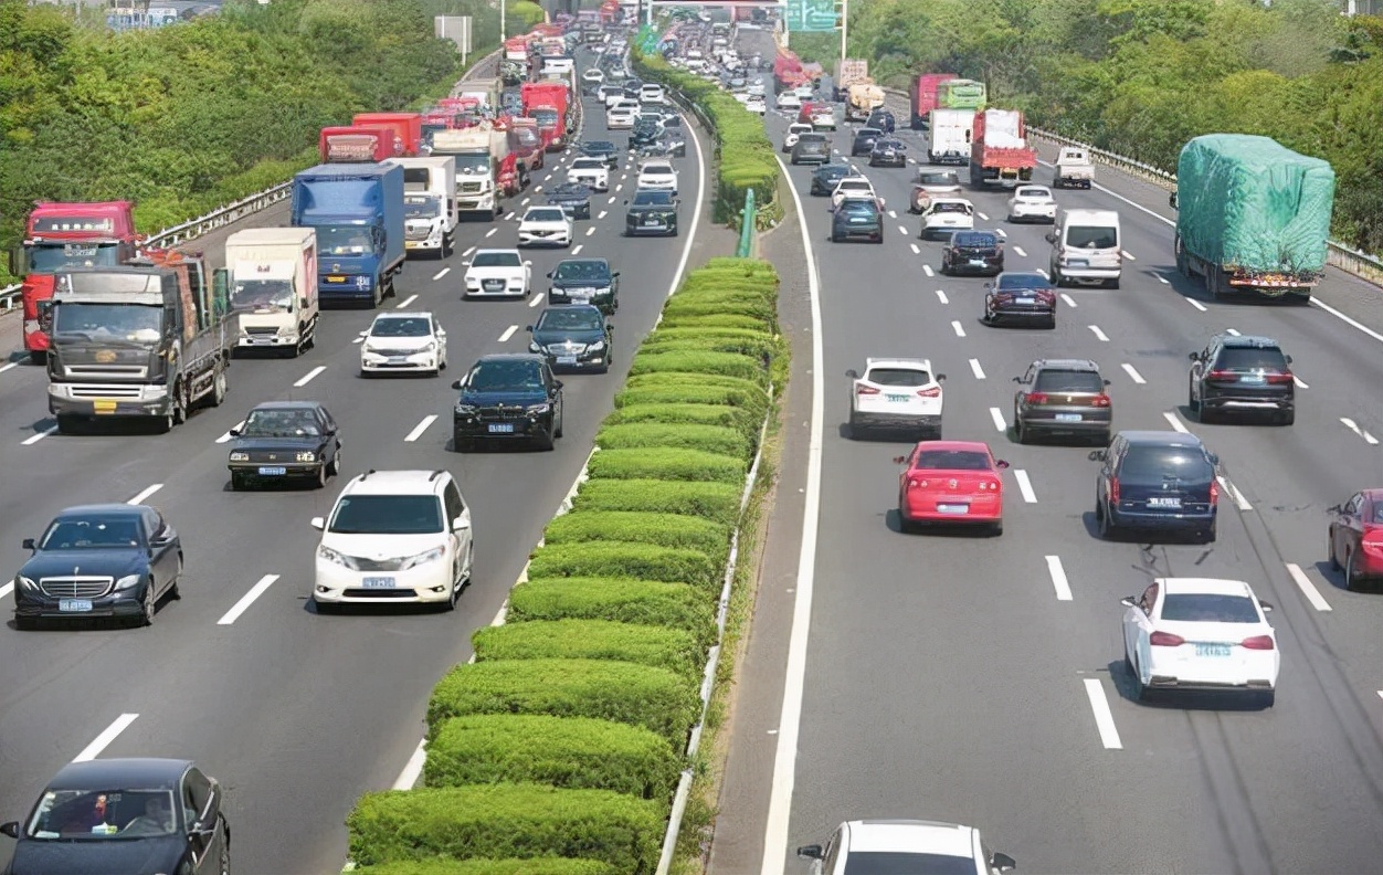
[[[451,387],[461,391],[452,409],[456,452],[490,438],[552,449],[561,437],[561,380],[552,376],[545,355],[484,355]]]

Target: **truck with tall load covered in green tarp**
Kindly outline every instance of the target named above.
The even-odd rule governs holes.
[[[1176,256],[1212,297],[1247,292],[1303,303],[1325,272],[1335,170],[1270,137],[1206,134],[1177,162]]]

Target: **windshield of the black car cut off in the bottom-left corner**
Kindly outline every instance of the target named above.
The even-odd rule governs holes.
[[[122,840],[174,835],[173,791],[50,789],[43,793],[25,835],[39,840]]]

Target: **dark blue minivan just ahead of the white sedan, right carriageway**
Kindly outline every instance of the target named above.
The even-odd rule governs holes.
[[[1105,449],[1095,477],[1095,525],[1111,539],[1122,529],[1176,531],[1202,543],[1216,538],[1220,459],[1194,434],[1120,431]]]

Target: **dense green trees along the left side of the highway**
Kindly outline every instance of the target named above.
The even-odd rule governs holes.
[[[124,33],[0,0],[0,243],[41,199],[131,199],[156,232],[315,163],[324,126],[459,75],[423,0],[230,0]]]

